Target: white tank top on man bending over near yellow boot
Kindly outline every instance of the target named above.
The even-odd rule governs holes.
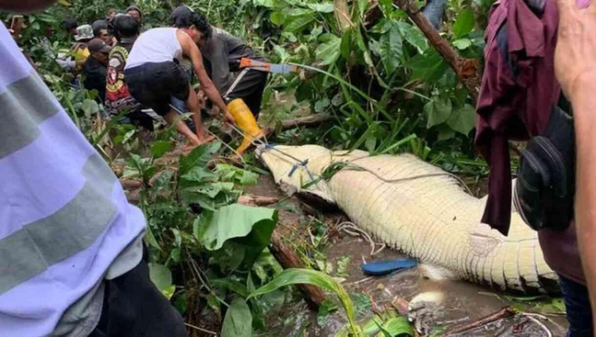
[[[182,46],[176,28],[154,28],[142,33],[132,46],[125,69],[145,63],[159,63],[182,59]]]

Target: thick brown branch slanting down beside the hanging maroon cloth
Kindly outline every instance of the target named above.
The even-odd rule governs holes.
[[[470,92],[471,98],[476,102],[478,93],[480,92],[480,84],[482,83],[479,61],[461,57],[451,46],[449,41],[439,35],[439,32],[434,29],[433,25],[430,24],[424,14],[418,10],[412,0],[393,0],[393,3],[405,11],[409,18],[414,21],[416,26],[420,28],[430,44],[437,49],[439,54],[451,68],[455,70],[457,77],[464,83],[465,88]]]

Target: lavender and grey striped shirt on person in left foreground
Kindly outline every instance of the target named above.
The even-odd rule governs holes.
[[[145,219],[2,24],[0,60],[0,336],[87,336]]]

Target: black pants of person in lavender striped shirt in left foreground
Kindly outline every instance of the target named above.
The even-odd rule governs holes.
[[[187,337],[184,320],[149,279],[145,260],[105,282],[100,323],[89,337]]]

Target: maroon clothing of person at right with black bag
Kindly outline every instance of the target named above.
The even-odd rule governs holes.
[[[475,142],[490,166],[482,222],[504,235],[511,221],[508,140],[541,133],[560,96],[554,76],[558,13],[554,0],[545,1],[544,13],[538,15],[523,0],[497,2],[486,29]],[[589,2],[577,0],[579,7]],[[538,237],[552,270],[585,285],[575,224],[563,233],[541,230]]]

